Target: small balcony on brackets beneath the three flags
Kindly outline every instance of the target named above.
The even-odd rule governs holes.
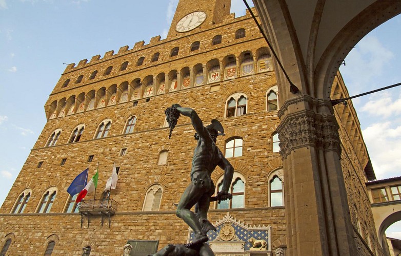
[[[84,222],[84,215],[88,218],[88,227],[90,224],[90,216],[99,215],[102,216],[102,226],[104,218],[108,217],[110,227],[111,216],[117,211],[117,206],[118,203],[111,198],[82,200],[77,206],[79,213],[81,213],[81,227]]]

